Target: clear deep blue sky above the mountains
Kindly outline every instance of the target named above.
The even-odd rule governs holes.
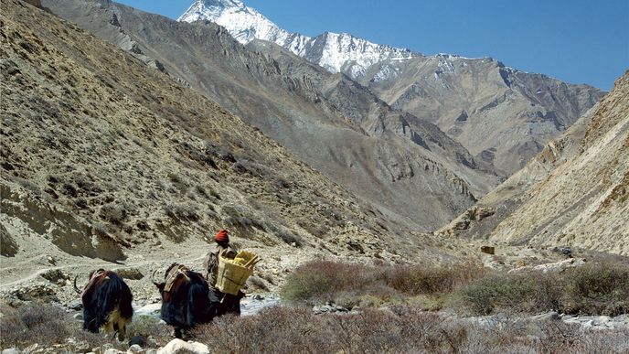
[[[176,18],[192,0],[118,0]],[[426,55],[493,57],[506,66],[611,90],[629,69],[629,0],[243,0],[315,37],[347,32]]]

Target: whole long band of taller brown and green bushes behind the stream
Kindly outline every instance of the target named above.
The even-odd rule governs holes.
[[[567,314],[616,316],[629,311],[629,266],[595,263],[563,273],[490,272],[471,263],[445,268],[368,266],[316,261],[299,266],[286,281],[283,298],[293,303],[335,301],[450,306],[463,314]],[[364,303],[364,301],[363,301]]]

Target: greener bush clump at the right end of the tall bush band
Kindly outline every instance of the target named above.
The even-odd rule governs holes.
[[[456,292],[464,309],[616,316],[629,311],[629,266],[591,263],[560,274],[489,274]]]

